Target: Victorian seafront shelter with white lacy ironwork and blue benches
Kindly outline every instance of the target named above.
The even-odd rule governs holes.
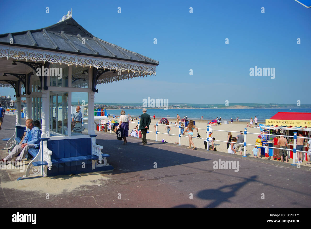
[[[98,111],[88,112],[88,123],[72,130],[71,105],[77,101],[73,95],[83,95],[85,107],[93,109],[97,85],[156,75],[157,65],[158,61],[95,37],[71,11],[42,29],[1,34],[0,87],[15,89],[17,105],[16,129],[7,147],[26,128],[21,98],[26,97],[27,108],[40,111],[26,110],[27,119],[40,121],[42,135],[40,149],[30,150],[33,159],[24,177],[111,171],[109,155],[95,143]]]

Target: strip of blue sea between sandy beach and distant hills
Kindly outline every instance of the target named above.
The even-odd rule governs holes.
[[[188,119],[201,119],[203,116],[204,120],[212,120],[217,117],[221,120],[229,121],[231,118],[233,121],[236,121],[236,118],[239,117],[239,121],[247,122],[251,118],[258,118],[258,121],[266,121],[270,119],[277,112],[307,112],[311,113],[311,108],[268,108],[268,109],[147,109],[147,114],[150,116],[156,115],[156,119],[161,119],[163,117],[167,118],[167,115],[172,118],[176,118],[179,114],[180,118],[183,119],[187,115]],[[121,110],[125,110],[126,115],[131,114],[132,117],[137,117],[142,114],[142,109],[112,109],[107,110],[107,113],[110,115],[120,115]]]

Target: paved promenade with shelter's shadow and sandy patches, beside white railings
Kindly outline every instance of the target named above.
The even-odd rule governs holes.
[[[14,127],[15,117],[6,115],[1,149],[2,138],[12,137]],[[1,207],[311,207],[307,166],[153,140],[143,146],[133,137],[123,145],[114,133],[96,134],[102,152],[111,155],[107,160],[113,172],[16,181],[25,172],[1,169]],[[0,150],[1,159],[6,155]],[[239,162],[239,171],[214,169],[219,159]]]

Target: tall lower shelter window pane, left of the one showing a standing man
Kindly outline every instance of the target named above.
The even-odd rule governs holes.
[[[50,136],[68,135],[68,92],[50,91]]]

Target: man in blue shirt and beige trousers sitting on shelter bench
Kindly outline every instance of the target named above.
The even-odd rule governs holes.
[[[28,130],[26,132],[26,136],[22,144],[15,146],[12,152],[9,155],[7,155],[4,159],[2,159],[4,164],[8,164],[7,162],[11,161],[12,158],[18,155],[19,153],[20,153],[19,157],[17,157],[14,160],[14,162],[21,161],[26,156],[30,148],[39,148],[41,130],[38,127],[34,126],[34,120],[32,119],[26,120],[26,128],[28,128]]]

